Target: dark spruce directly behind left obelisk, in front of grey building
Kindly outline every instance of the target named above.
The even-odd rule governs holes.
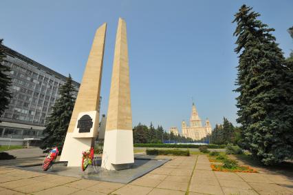
[[[41,148],[63,147],[74,109],[74,92],[76,90],[74,89],[74,85],[72,85],[72,77],[69,74],[66,82],[60,88],[61,97],[56,101],[52,114],[47,118],[45,125],[45,133],[47,136],[43,139]]]

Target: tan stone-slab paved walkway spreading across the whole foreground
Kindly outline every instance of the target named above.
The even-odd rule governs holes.
[[[205,155],[173,157],[172,161],[127,185],[0,167],[0,194],[164,195],[186,192],[190,195],[293,194],[293,181],[280,174],[213,172]]]

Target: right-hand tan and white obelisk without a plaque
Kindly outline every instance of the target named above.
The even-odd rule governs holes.
[[[134,163],[126,23],[118,21],[102,167],[121,170]]]

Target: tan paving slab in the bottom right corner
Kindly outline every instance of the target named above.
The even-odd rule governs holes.
[[[259,194],[290,194],[289,189],[275,183],[249,183]]]

